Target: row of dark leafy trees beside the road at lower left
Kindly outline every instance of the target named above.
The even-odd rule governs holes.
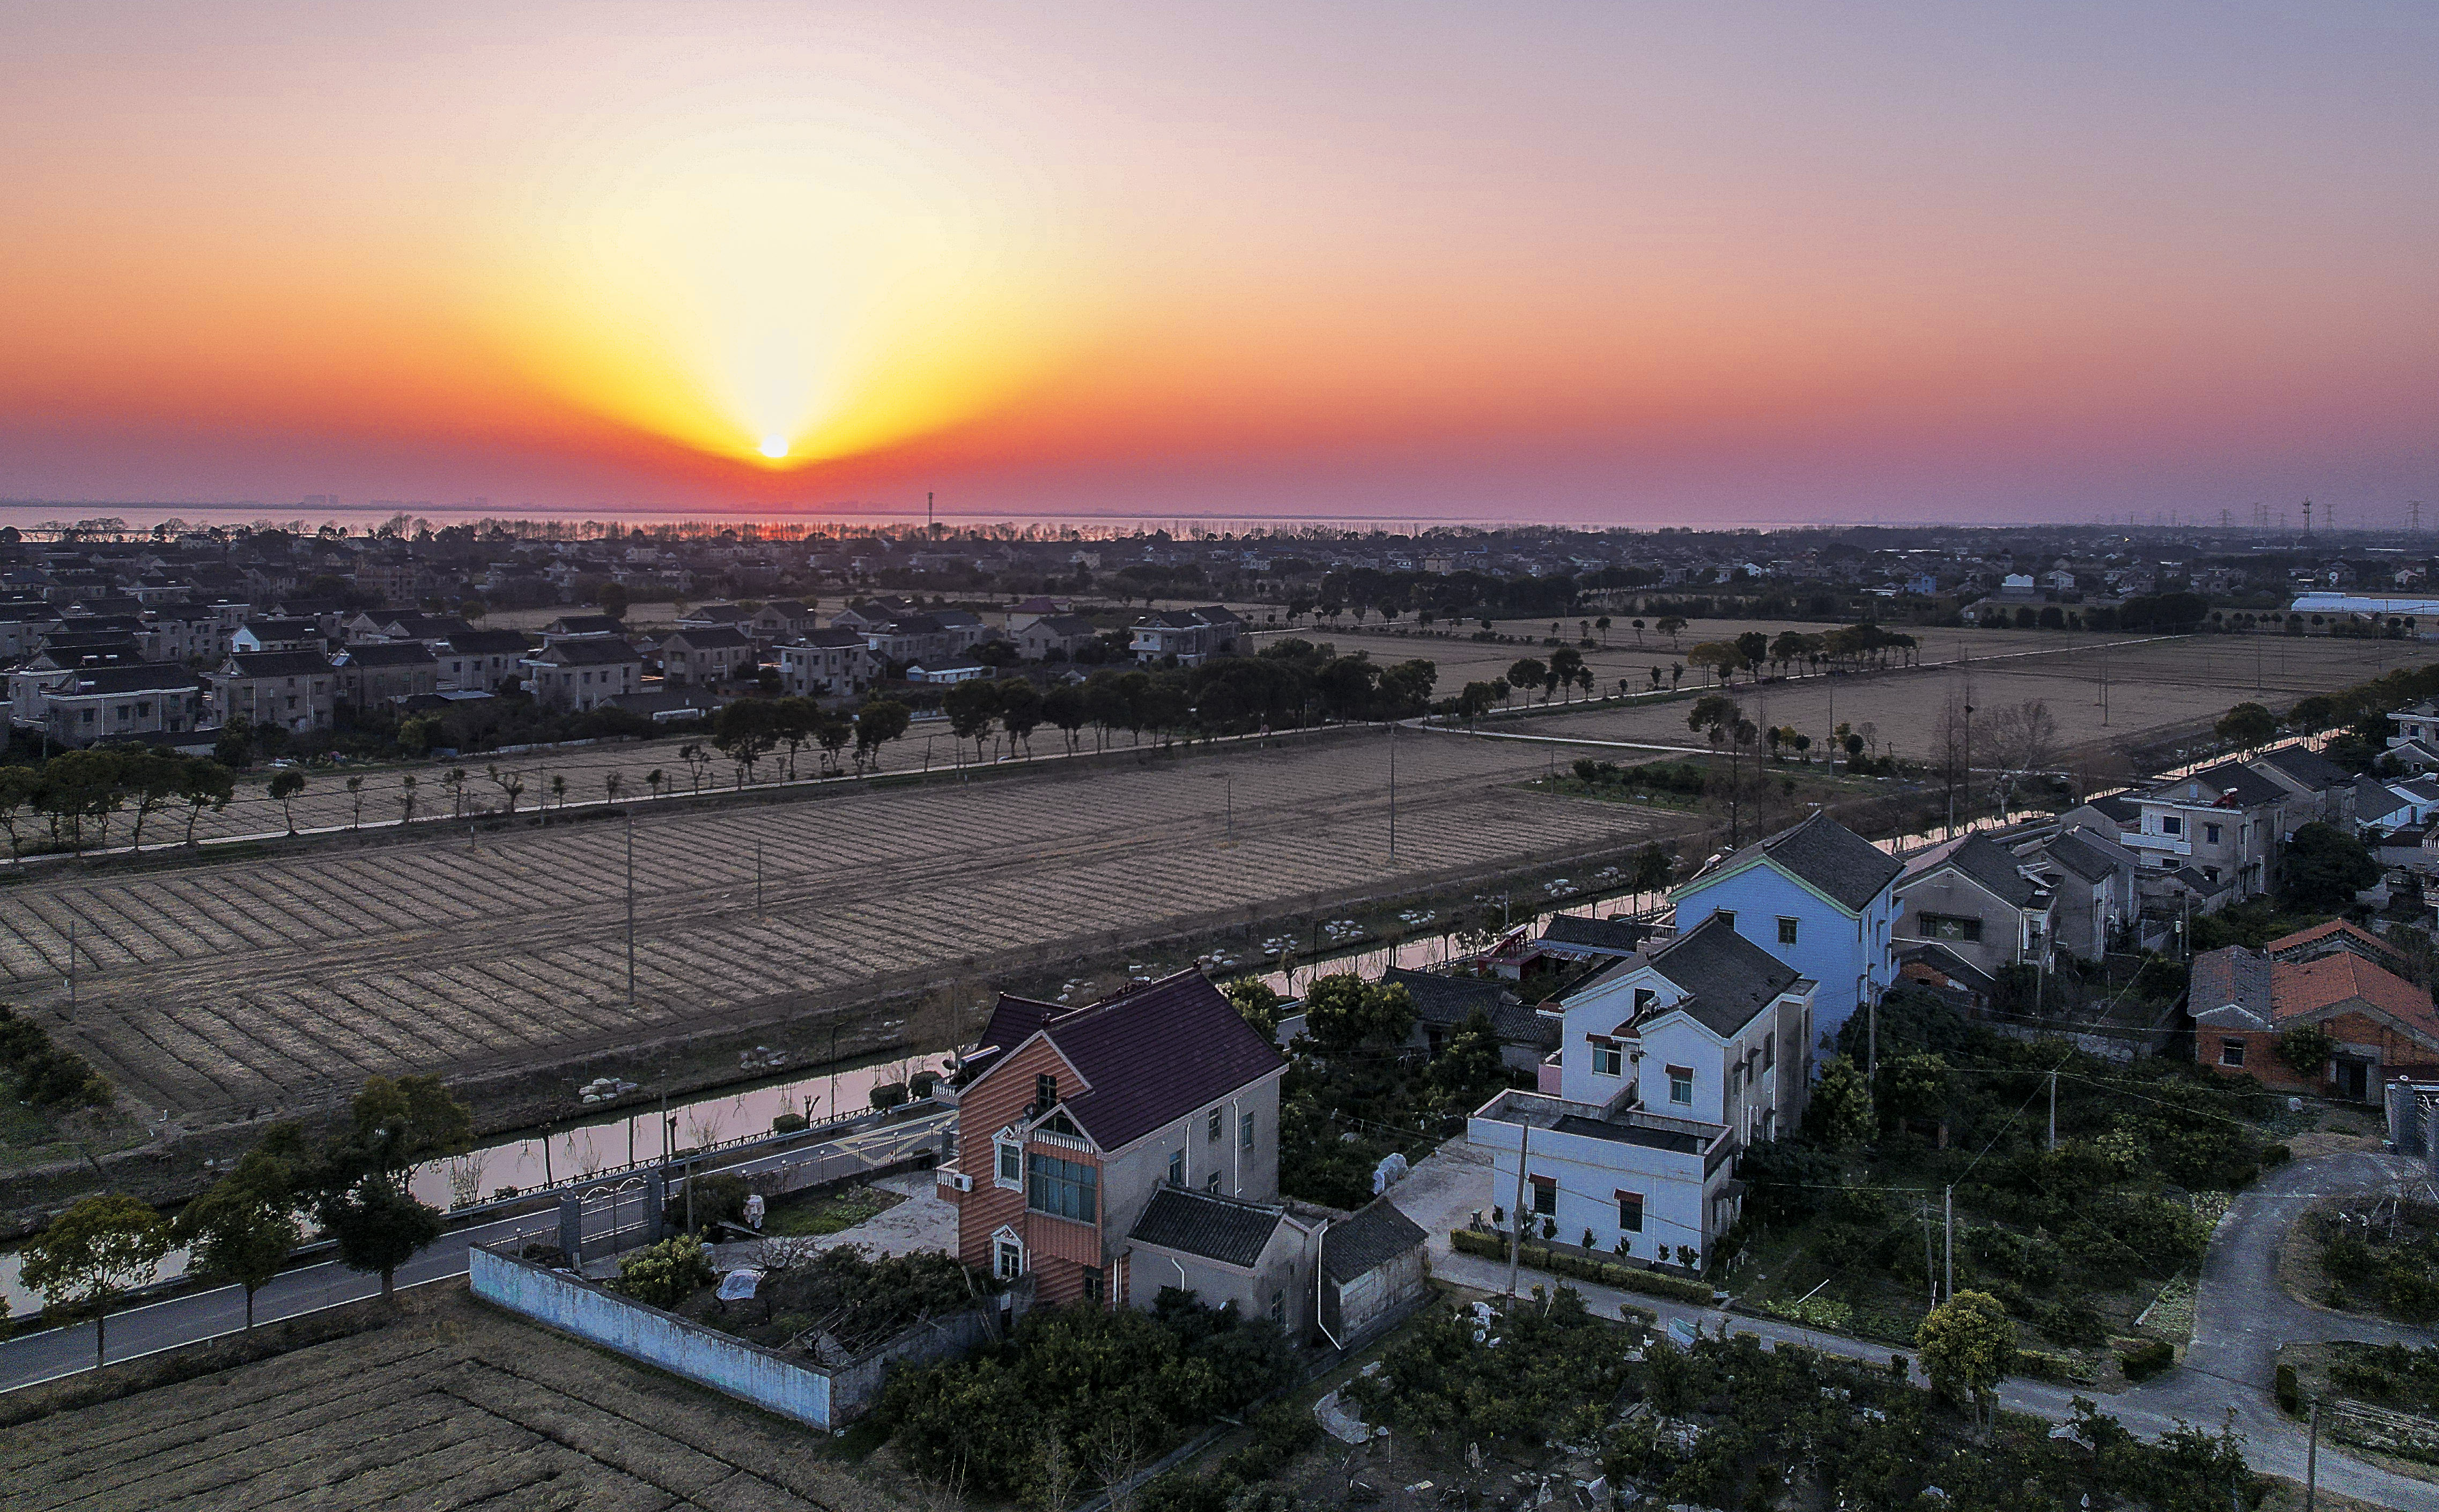
[[[171,1249],[185,1246],[198,1275],[241,1285],[246,1327],[254,1293],[271,1283],[305,1239],[312,1217],[339,1241],[339,1261],[380,1275],[441,1236],[441,1214],[415,1200],[415,1166],[463,1154],[473,1119],[437,1075],[376,1075],[349,1105],[346,1124],[320,1144],[293,1122],[273,1124],[207,1193],[166,1219],[127,1193],[85,1197],[24,1246],[24,1283],[44,1317],[93,1319],[93,1363],[102,1363],[110,1307],[149,1283]]]

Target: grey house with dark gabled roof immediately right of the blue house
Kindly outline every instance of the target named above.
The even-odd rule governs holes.
[[[2056,893],[2015,851],[1966,834],[1905,861],[1898,875],[1900,973],[1937,973],[1983,1002],[2005,966],[2049,968]]]

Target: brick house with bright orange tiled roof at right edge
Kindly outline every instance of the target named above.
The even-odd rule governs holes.
[[[2405,958],[2354,924],[2334,922],[2193,958],[2185,997],[2195,1061],[2219,1075],[2254,1075],[2283,1093],[2373,1102],[2395,1075],[2439,1071],[2439,1012]],[[2337,1054],[2312,1071],[2280,1056],[2280,1039],[2317,1024]]]

